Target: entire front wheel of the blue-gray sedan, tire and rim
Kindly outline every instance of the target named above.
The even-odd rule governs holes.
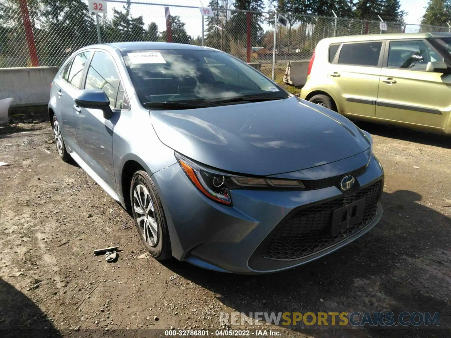
[[[160,196],[149,174],[138,170],[130,184],[133,218],[147,251],[157,260],[169,259],[169,231]]]

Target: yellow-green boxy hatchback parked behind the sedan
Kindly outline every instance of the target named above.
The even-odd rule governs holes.
[[[451,134],[451,33],[323,39],[301,98],[350,119]]]

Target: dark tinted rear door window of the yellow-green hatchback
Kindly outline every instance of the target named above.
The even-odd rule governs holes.
[[[340,50],[338,64],[377,66],[381,49],[382,41],[344,44]]]

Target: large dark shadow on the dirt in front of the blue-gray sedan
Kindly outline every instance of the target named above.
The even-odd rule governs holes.
[[[442,328],[451,326],[451,219],[417,203],[421,198],[411,191],[384,192],[384,215],[374,229],[339,251],[281,273],[221,274],[176,260],[165,265],[248,315],[393,311],[397,319],[402,311],[440,312],[439,329],[289,327],[314,337],[449,337],[449,329]]]

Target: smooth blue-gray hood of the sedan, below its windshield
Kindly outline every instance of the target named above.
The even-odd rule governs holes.
[[[307,169],[369,148],[342,115],[290,97],[190,110],[152,110],[161,142],[202,164],[240,174]]]

